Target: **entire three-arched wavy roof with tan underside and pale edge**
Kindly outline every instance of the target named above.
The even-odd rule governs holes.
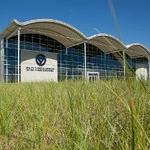
[[[105,53],[114,53],[125,50],[125,52],[131,57],[150,55],[149,49],[140,43],[133,43],[126,46],[118,38],[105,33],[86,37],[75,27],[54,19],[35,19],[26,22],[13,20],[1,33],[0,37],[9,38],[16,35],[16,30],[18,30],[19,27],[21,28],[21,34],[39,33],[46,35],[59,41],[65,47],[71,47],[86,41],[87,43],[93,44],[103,50]]]

